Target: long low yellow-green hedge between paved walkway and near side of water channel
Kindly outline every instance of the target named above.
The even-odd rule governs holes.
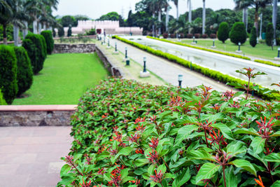
[[[129,43],[130,45],[135,46],[137,48],[140,48],[142,50],[146,50],[148,53],[152,53],[153,55],[164,57],[165,59],[170,60],[172,62],[176,62],[178,64],[181,64],[184,67],[190,68],[190,64],[191,64],[192,69],[194,71],[197,71],[201,74],[204,74],[205,76],[208,76],[210,78],[213,78],[216,81],[220,81],[222,83],[239,83],[241,85],[247,85],[247,81],[243,81],[239,78],[235,78],[235,77],[232,77],[232,76],[228,76],[226,74],[222,74],[220,71],[215,71],[215,70],[212,70],[212,69],[208,69],[206,67],[201,67],[200,65],[193,64],[188,60],[184,60],[180,57],[177,57],[176,55],[171,55],[169,53],[164,53],[161,50],[155,50],[151,47],[144,46],[140,43],[136,43],[134,41],[130,41],[130,40],[127,40],[127,39],[123,39],[119,36],[116,36],[116,39],[118,39],[120,41],[123,41],[125,43]],[[250,83],[250,85],[253,86],[253,83]],[[263,88],[260,85],[258,85],[258,86],[259,86],[259,88]],[[271,94],[271,93],[268,94],[268,93],[266,93],[266,91],[267,90],[259,90],[258,92],[256,92],[256,95],[262,97],[263,99],[268,99],[268,100],[280,99],[278,94],[274,94],[274,93],[273,94]],[[276,90],[273,90],[273,91],[276,92]]]

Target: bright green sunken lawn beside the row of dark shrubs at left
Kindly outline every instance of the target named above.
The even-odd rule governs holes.
[[[78,104],[87,88],[106,78],[96,53],[65,53],[48,55],[43,70],[34,76],[33,85],[13,104]]]

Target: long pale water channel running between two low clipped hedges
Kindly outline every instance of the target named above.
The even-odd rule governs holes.
[[[146,36],[122,36],[125,39],[141,43],[162,52],[176,55],[185,60],[199,64],[202,67],[220,71],[223,74],[228,74],[236,78],[244,79],[247,81],[246,76],[238,74],[235,70],[241,70],[244,67],[251,67],[256,71],[265,72],[267,75],[257,76],[253,79],[253,83],[273,88],[278,90],[276,86],[270,86],[272,83],[279,83],[280,68],[273,67],[266,64],[251,62],[248,60],[241,60],[235,57],[220,55],[217,53],[210,53],[203,50],[179,46],[172,43],[157,41],[154,39],[147,39]]]

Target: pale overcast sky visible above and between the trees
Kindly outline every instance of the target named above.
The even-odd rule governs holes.
[[[59,0],[57,11],[53,15],[87,15],[92,19],[97,19],[101,15],[116,11],[120,15],[122,12],[127,18],[128,11],[132,8],[134,11],[135,4],[140,0]],[[171,15],[176,15],[176,8],[171,1]],[[214,11],[221,8],[234,8],[233,0],[206,0],[207,8],[212,8]],[[192,0],[193,9],[202,7],[202,0]],[[123,11],[122,11],[123,10]],[[179,0],[179,13],[186,13],[187,0]]]

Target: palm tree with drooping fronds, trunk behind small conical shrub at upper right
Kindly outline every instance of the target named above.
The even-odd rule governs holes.
[[[234,0],[235,1],[235,9],[241,10],[243,8],[248,8],[249,6],[253,6],[255,8],[255,20],[254,27],[257,30],[258,36],[258,11],[260,8],[265,8],[265,6],[272,4],[273,0]]]

